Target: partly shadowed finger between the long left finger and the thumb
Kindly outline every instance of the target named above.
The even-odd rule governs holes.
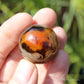
[[[19,50],[19,46],[17,46],[6,59],[4,66],[0,71],[0,81],[8,82],[13,76],[19,61],[23,59],[21,52]],[[9,74],[10,72],[10,74]]]

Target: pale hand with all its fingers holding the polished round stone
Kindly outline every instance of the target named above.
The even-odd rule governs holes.
[[[69,68],[69,57],[64,51],[67,36],[63,28],[53,27],[56,19],[52,9],[43,8],[33,17],[18,13],[1,25],[0,84],[64,84]],[[55,59],[45,64],[25,60],[18,47],[21,33],[35,23],[52,27],[60,43]]]

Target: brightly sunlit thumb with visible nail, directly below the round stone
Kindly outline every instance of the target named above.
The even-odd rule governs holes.
[[[37,84],[38,74],[34,64],[21,60],[8,84]]]

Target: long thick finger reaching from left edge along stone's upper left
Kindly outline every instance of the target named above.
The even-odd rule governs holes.
[[[17,45],[21,32],[32,22],[29,14],[19,13],[2,24],[0,28],[0,68],[9,52]]]

